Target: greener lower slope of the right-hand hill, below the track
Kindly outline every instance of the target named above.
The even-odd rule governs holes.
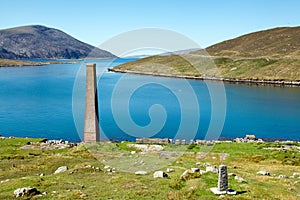
[[[300,81],[300,59],[296,58],[210,58],[197,54],[151,56],[115,69],[196,77]]]

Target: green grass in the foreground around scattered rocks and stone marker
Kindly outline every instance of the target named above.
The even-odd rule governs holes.
[[[150,171],[147,175],[138,176],[126,170],[134,160],[143,159],[145,164],[139,166],[141,170],[147,166],[148,160],[152,165],[159,160],[156,154],[132,155],[130,152],[133,149],[128,148],[126,142],[80,144],[69,149],[48,151],[20,149],[27,142],[38,141],[40,139],[0,139],[0,181],[10,179],[0,183],[0,199],[13,199],[13,191],[20,187],[36,187],[48,193],[33,197],[38,199],[216,199],[217,196],[209,188],[217,186],[217,174],[179,179],[183,171],[191,167],[205,170],[204,166],[196,165],[197,162],[226,164],[229,173],[247,180],[246,183],[238,183],[229,177],[229,186],[239,194],[227,196],[227,199],[299,199],[300,184],[295,183],[297,180],[299,182],[298,178],[279,179],[256,174],[258,170],[268,170],[277,176],[291,176],[299,171],[299,150],[282,152],[264,149],[278,147],[281,145],[278,143],[220,143],[202,157],[197,155],[205,146],[165,145],[166,151],[192,153],[158,163],[154,170],[165,171],[169,167],[175,172],[169,173],[169,178],[154,179]],[[226,159],[224,154],[228,155]],[[115,159],[116,156],[119,157]],[[116,173],[108,173],[104,169],[108,163],[117,168]],[[63,165],[68,166],[69,170],[53,175]],[[86,167],[88,165],[100,170]],[[40,177],[41,173],[45,175]]]

